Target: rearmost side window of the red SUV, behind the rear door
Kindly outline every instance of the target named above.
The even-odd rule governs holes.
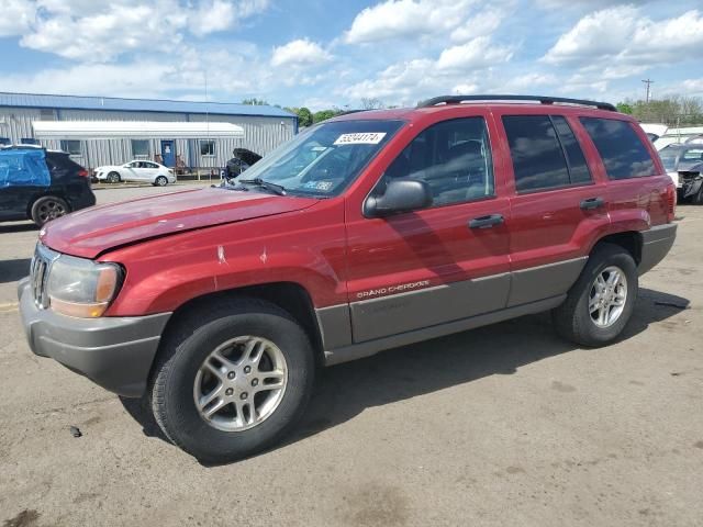
[[[655,175],[655,164],[646,146],[627,121],[579,117],[601,155],[610,179]]]

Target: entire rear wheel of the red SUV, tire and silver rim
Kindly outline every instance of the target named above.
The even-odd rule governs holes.
[[[618,245],[598,245],[567,300],[551,312],[557,333],[582,346],[611,344],[633,314],[637,289],[632,255]]]

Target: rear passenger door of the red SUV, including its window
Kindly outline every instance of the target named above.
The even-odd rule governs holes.
[[[569,290],[591,238],[607,228],[607,194],[587,162],[573,119],[509,109],[498,119],[514,182],[507,301],[514,306]]]

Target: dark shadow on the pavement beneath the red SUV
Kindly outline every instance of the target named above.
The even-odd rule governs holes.
[[[640,289],[635,312],[621,339],[631,338],[688,306],[689,300],[681,296]],[[576,349],[555,334],[549,314],[542,313],[335,366],[319,375],[305,416],[283,445],[353,419],[369,407],[488,375],[509,375],[525,365]],[[145,435],[168,440],[144,403],[129,399],[122,399],[122,403]]]

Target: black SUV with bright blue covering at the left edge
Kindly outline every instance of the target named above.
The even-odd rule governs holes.
[[[96,204],[90,179],[68,154],[36,146],[0,149],[0,222],[38,226]]]

